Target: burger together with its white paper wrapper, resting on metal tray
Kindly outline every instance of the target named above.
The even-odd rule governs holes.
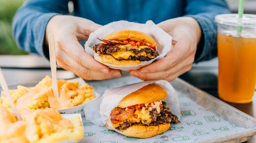
[[[180,104],[167,81],[144,81],[106,90],[100,115],[111,130],[148,138],[180,122]]]

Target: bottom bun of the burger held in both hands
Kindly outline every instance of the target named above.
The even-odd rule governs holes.
[[[115,59],[113,56],[111,55],[100,55],[99,56],[101,61],[103,63],[107,63],[107,64],[113,64],[113,65],[138,65],[140,63],[142,63],[143,61],[139,61],[139,60],[120,60],[118,61],[117,59]]]

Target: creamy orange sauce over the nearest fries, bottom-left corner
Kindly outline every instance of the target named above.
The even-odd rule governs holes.
[[[65,128],[74,128],[70,120],[62,118],[62,116],[54,109],[47,108],[35,111],[21,109],[19,110],[19,113],[22,121],[17,121],[13,113],[7,111],[7,109],[0,105],[1,141],[29,143],[26,135],[31,136],[31,133],[38,128],[38,125],[41,125],[41,122],[46,123],[48,135],[53,132],[53,123]]]

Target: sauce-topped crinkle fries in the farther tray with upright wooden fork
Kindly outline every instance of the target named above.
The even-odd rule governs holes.
[[[40,109],[51,107],[56,110],[67,109],[82,103],[86,103],[96,96],[91,91],[92,86],[83,84],[78,87],[78,82],[68,80],[57,80],[59,98],[55,98],[52,91],[52,79],[46,76],[35,87],[28,88],[17,86],[18,90],[11,91],[11,97],[17,109]],[[0,104],[10,111],[10,105],[3,96]]]

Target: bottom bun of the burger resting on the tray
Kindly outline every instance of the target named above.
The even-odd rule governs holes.
[[[166,130],[168,130],[170,125],[171,124],[169,122],[157,126],[132,125],[129,128],[120,131],[127,136],[148,138],[165,132]]]

